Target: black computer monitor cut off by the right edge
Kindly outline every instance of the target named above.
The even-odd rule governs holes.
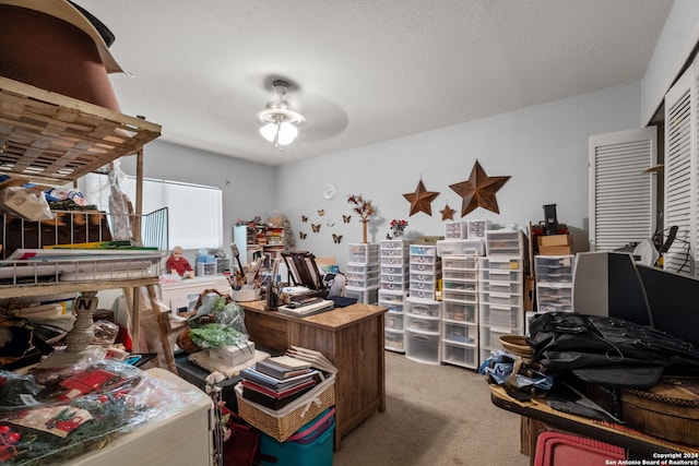
[[[636,267],[653,326],[699,347],[699,279],[641,264]]]

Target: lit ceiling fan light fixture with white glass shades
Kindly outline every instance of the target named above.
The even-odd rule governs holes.
[[[260,134],[281,150],[281,146],[294,142],[298,135],[296,126],[306,119],[294,110],[286,99],[288,83],[274,81],[272,87],[274,87],[276,99],[265,105],[264,110],[258,113],[258,119],[263,123],[260,128]]]

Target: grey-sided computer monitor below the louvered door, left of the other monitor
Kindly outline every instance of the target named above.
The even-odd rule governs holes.
[[[572,310],[579,314],[653,325],[633,256],[627,252],[580,252],[572,278]]]

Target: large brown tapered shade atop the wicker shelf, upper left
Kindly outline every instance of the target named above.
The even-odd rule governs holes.
[[[119,110],[95,40],[50,14],[0,3],[0,75]]]

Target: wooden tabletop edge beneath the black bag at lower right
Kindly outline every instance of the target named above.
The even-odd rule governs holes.
[[[495,406],[508,411],[545,422],[562,431],[621,446],[650,459],[656,459],[653,454],[657,453],[699,453],[699,446],[674,443],[627,426],[558,411],[543,399],[518,402],[501,386],[490,386],[490,401]],[[533,451],[530,451],[530,456],[533,459]]]

